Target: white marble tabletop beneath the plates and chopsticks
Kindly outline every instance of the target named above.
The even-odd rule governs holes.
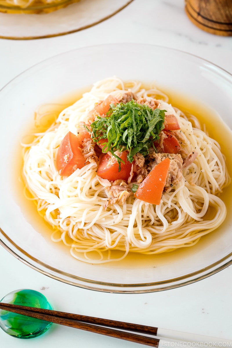
[[[201,56],[232,73],[232,37],[215,36],[195,27],[185,15],[184,0],[134,0],[112,18],[77,33],[38,40],[0,40],[0,88],[48,57],[108,42],[145,42],[173,47]],[[232,340],[232,266],[173,290],[110,294],[44,276],[3,247],[0,247],[0,264],[0,298],[16,289],[32,288],[44,293],[57,310]],[[8,348],[139,347],[136,343],[57,325],[33,340],[17,340],[0,331],[0,342],[1,347]]]

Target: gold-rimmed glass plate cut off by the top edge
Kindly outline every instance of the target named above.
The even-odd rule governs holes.
[[[70,34],[103,22],[132,1],[80,0],[44,14],[0,12],[0,38],[26,40]]]

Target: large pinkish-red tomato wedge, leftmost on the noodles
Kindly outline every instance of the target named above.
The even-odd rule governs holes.
[[[59,145],[57,152],[56,166],[59,174],[69,176],[77,168],[81,169],[86,164],[86,159],[80,149],[78,137],[68,132]]]

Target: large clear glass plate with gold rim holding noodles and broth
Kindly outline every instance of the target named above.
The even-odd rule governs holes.
[[[183,102],[190,100],[187,105],[202,108],[215,137],[219,128],[209,117],[218,115],[222,118],[221,139],[223,136],[231,139],[232,76],[199,57],[152,45],[112,44],[72,50],[45,60],[17,76],[0,92],[0,243],[43,274],[107,292],[165,290],[195,282],[227,267],[232,263],[231,199],[226,200],[228,214],[223,225],[202,237],[195,246],[160,255],[136,255],[126,261],[102,265],[75,260],[69,249],[51,242],[42,218],[33,214],[34,204],[25,203],[17,183],[19,142],[33,123],[35,109],[62,101],[64,95],[73,96],[73,92],[114,75],[123,80],[154,82],[173,101],[176,95]],[[230,148],[222,144],[228,159]],[[230,173],[231,167],[229,163]],[[230,185],[226,189],[227,197],[231,193]]]

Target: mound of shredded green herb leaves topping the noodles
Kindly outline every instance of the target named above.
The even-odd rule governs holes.
[[[115,151],[128,150],[127,160],[133,162],[133,156],[140,152],[146,156],[153,142],[159,140],[159,133],[164,128],[166,110],[151,109],[134,100],[124,104],[111,104],[106,117],[98,116],[91,124],[91,137],[94,142],[105,139],[103,152],[111,152],[117,158],[119,166],[123,162],[114,154]],[[120,168],[120,167],[119,167]]]

